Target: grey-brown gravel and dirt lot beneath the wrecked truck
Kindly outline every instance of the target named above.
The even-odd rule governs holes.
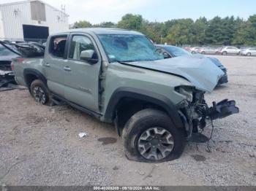
[[[1,92],[0,185],[256,185],[256,58],[218,58],[230,82],[206,98],[235,99],[240,113],[214,122],[211,152],[188,143],[167,163],[127,160],[111,125],[69,106],[36,104],[27,90]]]

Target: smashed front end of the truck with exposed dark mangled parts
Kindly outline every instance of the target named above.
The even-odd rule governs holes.
[[[208,106],[204,98],[205,92],[196,90],[195,87],[179,86],[176,87],[176,92],[185,96],[184,101],[177,104],[177,108],[184,122],[189,141],[208,141],[209,138],[198,133],[199,130],[202,131],[208,124],[212,125],[213,120],[239,112],[236,101],[228,101],[227,99],[218,103],[214,101],[212,106]]]

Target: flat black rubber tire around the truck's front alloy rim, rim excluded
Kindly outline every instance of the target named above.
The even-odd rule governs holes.
[[[167,155],[159,160],[156,158],[148,159],[146,157],[143,157],[143,155],[140,154],[138,148],[138,144],[140,141],[139,139],[142,134],[145,133],[146,130],[153,127],[159,127],[167,130],[167,132],[170,133],[172,136],[171,141],[173,141],[173,147],[170,153],[167,152]],[[164,161],[175,160],[181,156],[181,153],[184,151],[184,147],[186,144],[184,129],[176,128],[173,125],[173,122],[170,120],[170,117],[168,117],[165,112],[159,111],[157,109],[143,109],[140,112],[134,114],[124,126],[122,138],[125,155],[129,160],[148,163],[161,163]],[[161,146],[163,145],[164,144],[161,144]],[[150,150],[151,149],[152,147],[150,147]],[[159,149],[157,149],[156,153],[157,151],[159,152]],[[160,155],[160,153],[157,155]]]

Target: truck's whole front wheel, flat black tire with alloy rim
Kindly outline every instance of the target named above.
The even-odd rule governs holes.
[[[184,129],[176,128],[165,112],[143,109],[134,114],[122,133],[129,160],[160,163],[180,157],[185,146]]]

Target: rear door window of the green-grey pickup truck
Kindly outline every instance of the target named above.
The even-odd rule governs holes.
[[[64,58],[67,36],[53,36],[50,39],[50,54],[54,57]]]

